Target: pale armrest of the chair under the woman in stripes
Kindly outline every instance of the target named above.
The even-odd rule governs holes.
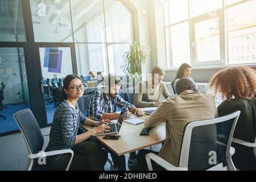
[[[68,171],[68,169],[71,165],[72,159],[73,159],[73,155],[74,155],[74,152],[71,149],[41,152],[41,153],[38,153],[38,154],[28,154],[27,157],[30,158],[30,159],[37,159],[37,158],[43,158],[43,157],[46,157],[46,156],[59,155],[59,154],[68,154],[68,153],[71,154],[71,158],[69,159],[68,166],[66,168],[66,171]]]

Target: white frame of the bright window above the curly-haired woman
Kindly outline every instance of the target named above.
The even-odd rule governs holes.
[[[173,67],[174,65],[174,60],[172,58],[172,39],[171,39],[171,27],[176,25],[176,24],[180,24],[183,22],[188,21],[189,22],[189,47],[190,47],[190,63],[191,66],[193,68],[199,68],[199,69],[204,69],[204,68],[223,68],[223,67],[229,67],[232,65],[256,65],[253,63],[244,63],[244,64],[229,64],[229,50],[228,50],[228,15],[227,15],[227,11],[230,7],[234,7],[234,6],[239,6],[242,5],[243,3],[246,2],[250,2],[251,0],[242,0],[242,1],[238,1],[235,3],[232,3],[230,5],[228,5],[228,3],[226,2],[227,0],[222,0],[222,6],[220,9],[217,10],[213,10],[210,11],[208,13],[202,14],[202,15],[198,15],[195,17],[191,17],[191,2],[190,0],[188,1],[188,19],[182,20],[180,22],[176,22],[176,23],[169,23],[166,24],[166,19],[170,18],[167,17],[168,16],[168,12],[170,11],[170,9],[165,8],[164,5],[168,2],[170,2],[171,0],[163,0],[162,4],[163,4],[163,18],[164,18],[164,31],[165,31],[165,39],[164,39],[164,43],[165,43],[165,48],[166,48],[166,66],[167,69],[166,70],[176,70],[177,68]],[[215,14],[216,13],[216,14]],[[213,16],[210,15],[216,15],[214,17],[218,17],[219,18],[219,22],[220,22],[220,60],[216,60],[216,61],[202,61],[202,62],[198,62],[197,61],[197,55],[196,55],[196,45],[195,45],[195,23],[198,22],[202,22],[204,20],[208,20],[208,19],[212,19],[214,18]],[[193,44],[194,42],[194,44]]]

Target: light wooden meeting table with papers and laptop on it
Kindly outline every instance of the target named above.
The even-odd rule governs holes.
[[[149,115],[144,114],[139,119],[146,119]],[[141,150],[146,147],[154,146],[155,144],[163,143],[166,139],[166,123],[161,123],[152,129],[150,135],[141,136],[141,130],[144,128],[143,123],[139,125],[132,125],[123,122],[122,127],[118,133],[121,136],[118,140],[103,139],[104,135],[95,136],[104,147],[108,148],[114,155],[118,157],[118,169],[121,171],[126,170],[125,154]],[[92,130],[93,126],[80,125],[83,131]]]

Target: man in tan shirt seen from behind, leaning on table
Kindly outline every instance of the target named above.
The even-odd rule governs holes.
[[[158,154],[161,158],[177,167],[184,128],[187,123],[212,119],[217,115],[214,97],[207,93],[200,93],[195,82],[188,78],[181,78],[177,81],[176,90],[177,97],[167,98],[167,100],[163,101],[144,122],[146,129],[166,122],[166,139],[159,153],[150,150],[139,151],[137,159],[140,170],[147,169],[145,155],[149,152]],[[204,151],[202,156],[200,156],[200,160],[202,160],[200,165],[204,165],[199,166],[196,161],[199,160],[197,158],[195,161],[192,161],[193,169],[207,169],[209,167],[209,151],[216,150],[216,135],[214,135],[216,134],[216,128],[209,128],[208,130],[213,132],[212,138],[205,140],[207,142],[205,146],[207,146],[208,150],[205,150],[205,146],[197,144],[197,149]],[[205,160],[205,157],[207,160]],[[155,165],[154,169],[159,169],[159,167]]]

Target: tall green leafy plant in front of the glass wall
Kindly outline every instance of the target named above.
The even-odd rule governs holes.
[[[140,46],[134,42],[130,46],[130,50],[123,55],[125,62],[121,65],[123,73],[126,73],[127,83],[133,83],[135,86],[137,81],[141,81],[141,65],[145,63],[147,53],[151,49],[149,47]]]

